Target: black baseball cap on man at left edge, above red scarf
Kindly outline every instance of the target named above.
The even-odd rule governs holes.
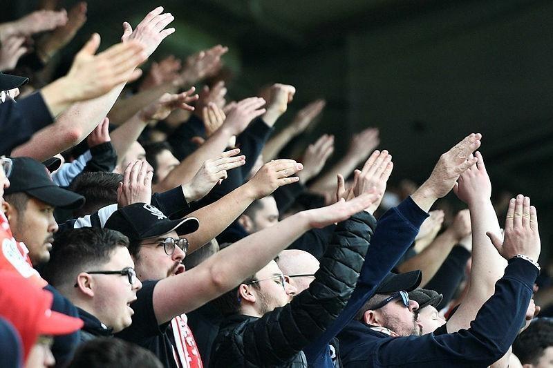
[[[53,182],[48,168],[30,157],[11,157],[10,186],[5,194],[24,192],[44,203],[62,209],[78,209],[84,197],[61,188]]]

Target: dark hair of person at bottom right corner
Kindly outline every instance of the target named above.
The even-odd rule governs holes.
[[[522,364],[537,365],[543,351],[553,346],[553,319],[536,318],[514,340],[513,353]]]

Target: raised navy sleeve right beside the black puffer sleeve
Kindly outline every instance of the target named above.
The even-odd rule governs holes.
[[[310,367],[326,366],[328,342],[348,325],[366,300],[371,298],[378,284],[411,246],[427,217],[428,213],[422,211],[411,197],[380,217],[355,291],[346,308],[321,337],[303,350]]]

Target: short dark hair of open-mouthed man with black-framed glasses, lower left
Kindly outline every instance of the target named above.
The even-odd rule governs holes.
[[[118,246],[129,246],[129,238],[119,231],[95,227],[64,231],[55,238],[43,276],[54,287],[73,283],[80,272],[109,262]]]

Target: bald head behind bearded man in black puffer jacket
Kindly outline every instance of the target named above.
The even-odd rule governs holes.
[[[306,251],[299,251],[297,249],[281,251],[277,264],[285,275],[314,275],[319,269],[317,258]],[[313,277],[301,276],[290,278],[290,284],[298,290],[298,293],[301,293],[301,291],[309,287],[309,284],[313,280]]]

